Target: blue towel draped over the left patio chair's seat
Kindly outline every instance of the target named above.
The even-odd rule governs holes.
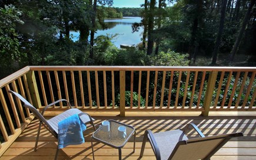
[[[81,121],[77,114],[58,123],[58,148],[64,148],[67,145],[77,145],[84,143],[86,125]]]

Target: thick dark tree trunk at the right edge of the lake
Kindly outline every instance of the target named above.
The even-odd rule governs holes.
[[[154,30],[154,12],[155,12],[155,0],[150,1],[149,18],[148,18],[148,50],[147,55],[151,55],[153,52],[154,39],[152,38],[152,31]]]

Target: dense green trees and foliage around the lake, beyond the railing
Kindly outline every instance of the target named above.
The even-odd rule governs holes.
[[[184,58],[191,59],[191,65],[210,65],[211,60],[198,62],[213,55],[212,65],[232,65],[228,62],[240,55],[251,61],[245,65],[255,65],[255,0],[145,0],[141,8],[111,5],[112,0],[0,1],[1,76],[12,72],[4,68],[25,65],[154,65],[161,64],[152,62],[158,54],[171,52],[188,54]],[[94,36],[106,27],[105,18],[122,16],[142,17],[132,25],[134,32],[144,28],[141,47],[122,51],[112,45],[112,36]],[[80,33],[79,41],[72,41],[71,31]],[[118,57],[131,58],[131,63],[122,64]]]

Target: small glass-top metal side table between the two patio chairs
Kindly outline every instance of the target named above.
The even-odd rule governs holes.
[[[121,122],[115,121],[115,120],[108,120],[109,121],[109,132],[102,131],[102,126],[99,126],[99,128],[92,134],[91,138],[91,145],[92,145],[92,156],[94,158],[94,146],[92,144],[92,140],[95,139],[95,141],[101,142],[102,144],[111,146],[113,148],[118,149],[119,153],[119,159],[122,157],[122,151],[121,148],[129,141],[129,139],[132,137],[132,134],[134,134],[134,151],[135,152],[135,141],[136,141],[136,132],[134,127],[123,124]],[[118,136],[118,127],[119,126],[125,126],[126,128],[126,134],[127,136],[125,138],[119,138]]]

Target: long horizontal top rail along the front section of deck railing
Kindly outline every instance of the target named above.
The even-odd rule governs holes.
[[[256,71],[242,66],[29,66],[32,71]]]

